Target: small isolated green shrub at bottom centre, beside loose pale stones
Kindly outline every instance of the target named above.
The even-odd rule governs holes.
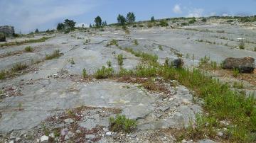
[[[116,118],[110,118],[110,130],[112,132],[130,133],[137,127],[135,120],[125,117],[125,115],[116,115]]]

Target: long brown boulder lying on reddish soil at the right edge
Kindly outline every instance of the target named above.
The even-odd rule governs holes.
[[[252,73],[255,69],[255,59],[228,57],[223,61],[223,69],[238,69],[241,73]]]

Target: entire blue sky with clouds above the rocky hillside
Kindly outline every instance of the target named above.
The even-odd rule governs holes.
[[[77,24],[101,16],[116,23],[119,13],[132,11],[137,21],[155,18],[256,15],[256,0],[0,0],[0,25],[14,25],[16,33],[55,28],[65,18]]]

